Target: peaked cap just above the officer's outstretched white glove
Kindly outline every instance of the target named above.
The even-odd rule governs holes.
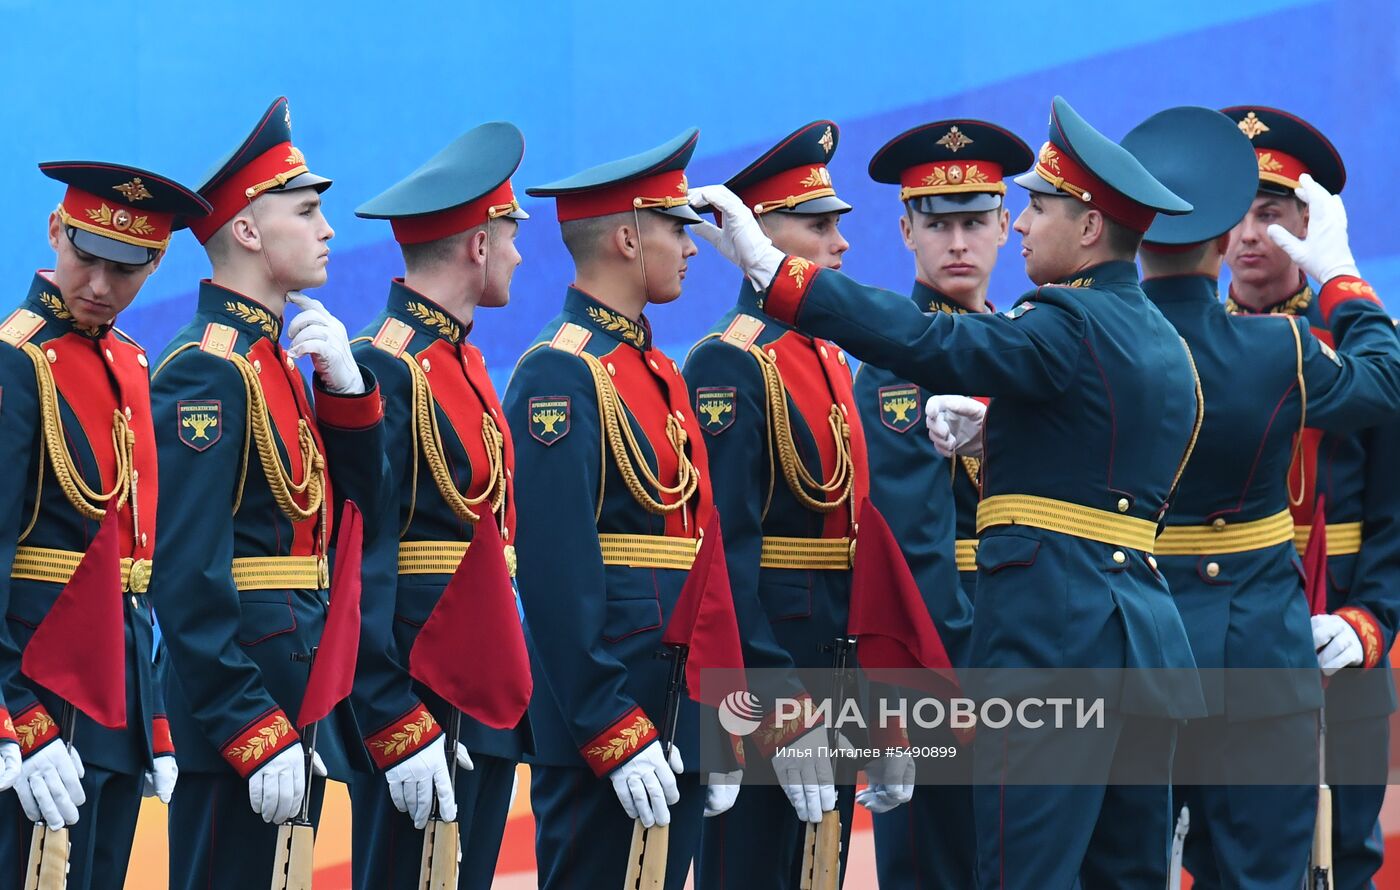
[[[813,120],[788,133],[724,185],[756,214],[846,213],[851,206],[836,197],[826,169],[840,139],[834,122]]]

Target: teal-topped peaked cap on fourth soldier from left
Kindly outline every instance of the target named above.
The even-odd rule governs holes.
[[[531,186],[532,197],[553,197],[560,222],[606,217],[633,210],[655,210],[699,222],[690,209],[686,164],[694,154],[700,130],[690,127],[671,141],[620,161],[591,167],[567,179]]]

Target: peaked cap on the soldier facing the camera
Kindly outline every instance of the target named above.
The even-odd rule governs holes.
[[[977,213],[1000,209],[1004,179],[1035,162],[1030,146],[1011,130],[986,120],[935,120],[881,146],[869,174],[900,186],[899,200],[920,213]]]

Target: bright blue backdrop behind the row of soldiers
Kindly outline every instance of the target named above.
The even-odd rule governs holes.
[[[977,4],[517,0],[466,3],[99,3],[0,0],[0,242],[18,302],[52,264],[46,216],[62,186],[35,164],[91,158],[197,185],[277,95],[297,146],[332,176],[330,283],[315,294],[351,332],[402,274],[384,222],[353,209],[466,129],[515,122],[526,139],[517,190],[700,127],[693,185],[722,181],[797,126],[841,125],[830,165],[855,206],[846,271],[907,290],[895,186],[865,165],[890,136],[949,116],[1044,139],[1061,94],[1117,139],[1169,105],[1278,105],[1326,132],[1348,167],[1352,246],[1382,295],[1400,292],[1386,235],[1400,136],[1400,7],[1380,0],[1099,0]],[[522,195],[524,197],[524,195]],[[1008,206],[1025,196],[1012,188]],[[512,302],[472,334],[504,385],[571,277],[549,202],[525,200]],[[192,311],[203,250],[176,235],[119,325],[158,351]],[[1012,234],[993,281],[998,305],[1028,287]],[[680,301],[651,312],[680,360],[732,302],[738,274],[708,248]]]

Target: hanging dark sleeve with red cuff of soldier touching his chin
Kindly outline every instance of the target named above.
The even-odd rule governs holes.
[[[181,437],[181,403],[220,406],[221,430],[213,444]],[[238,642],[242,602],[234,586],[231,507],[245,472],[242,378],[224,358],[186,350],[158,368],[151,413],[161,479],[168,480],[161,486],[151,602],[195,719],[210,744],[248,778],[294,744],[298,733]],[[246,472],[262,470],[255,465]],[[251,735],[263,743],[248,747],[244,739]]]

